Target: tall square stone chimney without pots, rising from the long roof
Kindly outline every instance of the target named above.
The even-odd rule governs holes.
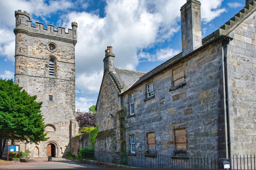
[[[201,3],[187,0],[180,9],[182,56],[194,51],[202,45]]]

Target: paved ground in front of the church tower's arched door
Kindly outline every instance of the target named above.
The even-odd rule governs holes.
[[[102,166],[80,163],[65,158],[21,158],[21,163],[5,162],[0,163],[0,169],[71,169],[71,168],[103,168]]]

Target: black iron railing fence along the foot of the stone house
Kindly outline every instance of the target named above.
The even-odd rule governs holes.
[[[138,168],[189,168],[189,169],[223,169],[222,162],[226,158],[213,156],[190,156],[171,154],[147,154],[127,152],[83,152],[83,159],[128,165]],[[255,155],[233,155],[232,169],[254,169]]]

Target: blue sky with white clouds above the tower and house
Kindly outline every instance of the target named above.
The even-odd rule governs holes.
[[[71,28],[78,23],[76,108],[96,104],[107,46],[117,68],[148,72],[181,51],[180,7],[186,0],[0,1],[0,77],[14,79],[15,10],[33,24]],[[201,0],[202,37],[245,6],[245,0]]]

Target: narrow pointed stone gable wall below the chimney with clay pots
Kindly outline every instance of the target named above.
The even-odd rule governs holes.
[[[97,124],[100,126],[94,146],[95,150],[121,150],[123,134],[119,111],[122,108],[121,97],[118,95],[115,84],[109,73],[105,71],[97,102]]]

